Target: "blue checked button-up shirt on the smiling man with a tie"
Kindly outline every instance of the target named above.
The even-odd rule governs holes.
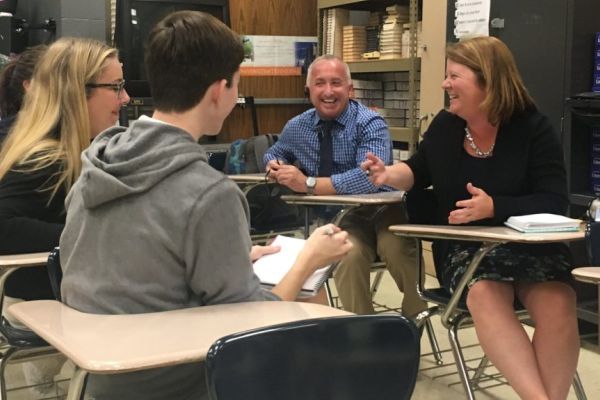
[[[265,153],[264,163],[281,160],[298,162],[308,176],[319,169],[319,115],[314,108],[292,118],[283,128],[279,140]],[[362,194],[388,191],[377,188],[360,169],[360,163],[372,152],[384,163],[392,162],[392,141],[384,119],[362,104],[350,100],[336,118],[332,129],[333,169],[331,182],[338,194]]]

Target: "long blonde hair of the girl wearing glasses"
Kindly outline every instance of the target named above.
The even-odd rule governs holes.
[[[21,111],[0,151],[0,179],[10,171],[35,172],[60,162],[50,187],[69,191],[90,144],[86,84],[117,50],[94,39],[61,38],[36,65]]]

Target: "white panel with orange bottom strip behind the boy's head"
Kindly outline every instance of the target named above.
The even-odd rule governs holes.
[[[302,75],[317,55],[316,36],[242,36],[242,76]]]

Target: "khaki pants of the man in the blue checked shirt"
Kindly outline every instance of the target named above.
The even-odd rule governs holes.
[[[410,317],[425,310],[416,287],[416,246],[411,238],[394,235],[390,225],[406,223],[404,204],[361,207],[344,216],[340,227],[348,231],[354,247],[334,274],[344,309],[357,314],[375,312],[371,301],[370,270],[377,259],[386,263],[390,275],[404,293],[402,314]]]

